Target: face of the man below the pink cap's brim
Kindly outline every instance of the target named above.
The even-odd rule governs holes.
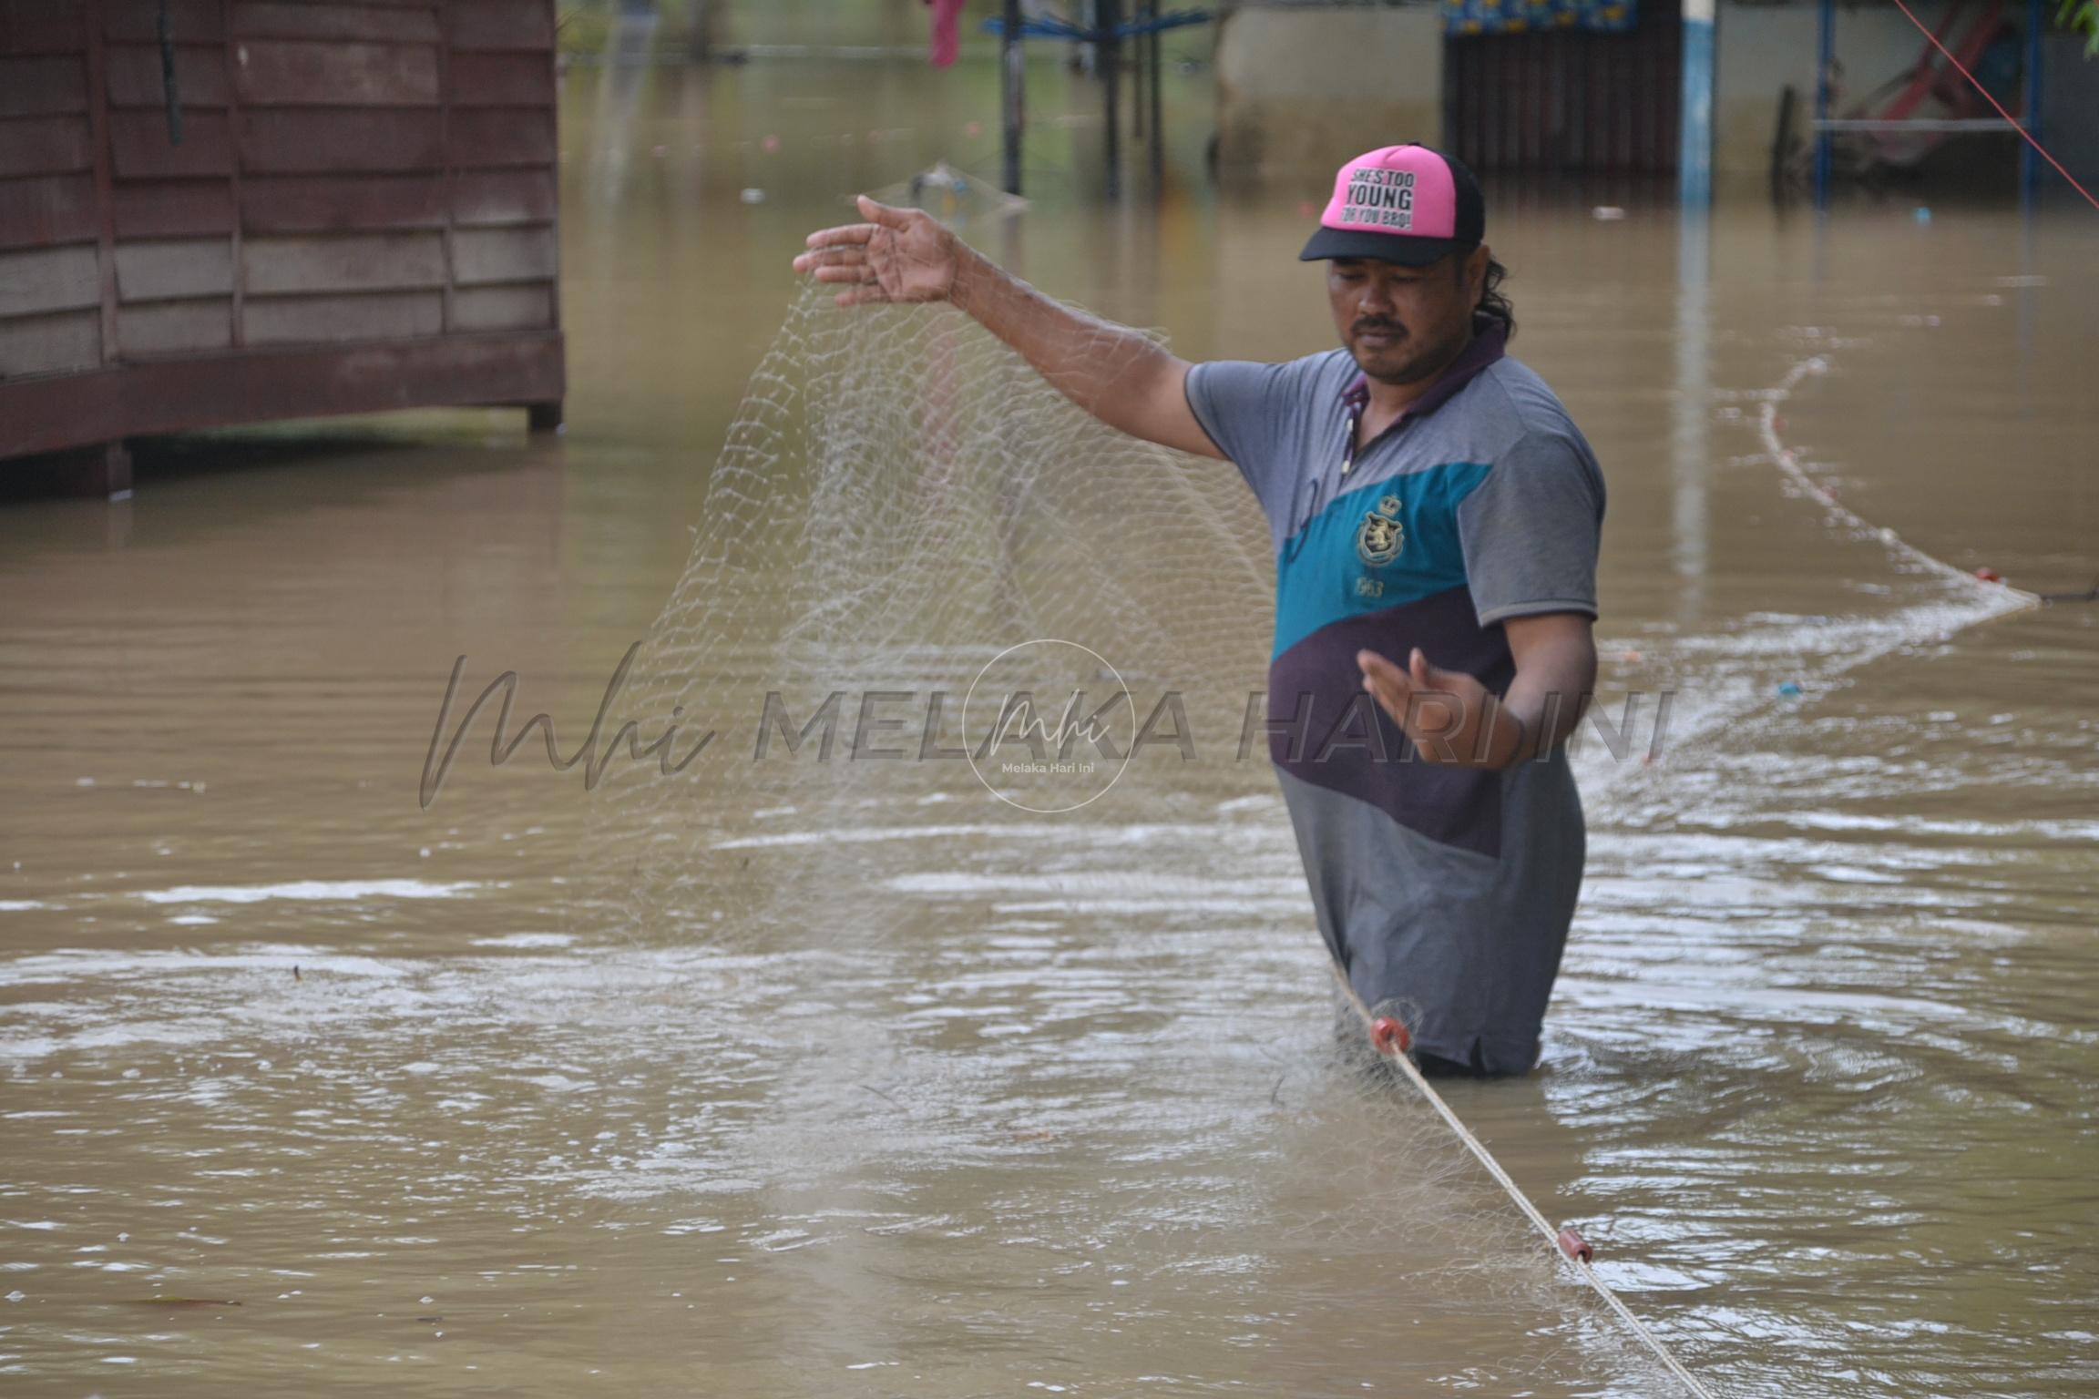
[[[1465,344],[1486,260],[1484,245],[1427,266],[1331,260],[1327,296],[1341,344],[1381,384],[1415,384],[1440,373]]]

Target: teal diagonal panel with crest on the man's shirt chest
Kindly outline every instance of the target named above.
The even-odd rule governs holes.
[[[1457,508],[1484,461],[1446,461],[1337,495],[1276,554],[1276,648],[1320,627],[1417,602],[1465,581]]]

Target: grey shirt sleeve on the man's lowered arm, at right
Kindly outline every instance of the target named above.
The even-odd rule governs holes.
[[[1532,612],[1595,617],[1604,472],[1578,436],[1528,432],[1457,510],[1480,625]]]

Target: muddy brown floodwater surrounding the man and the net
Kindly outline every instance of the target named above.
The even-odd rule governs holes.
[[[1335,1047],[1272,791],[951,810],[884,843],[907,938],[770,954],[575,931],[573,774],[420,810],[455,657],[588,726],[802,233],[995,170],[991,84],[571,73],[565,438],[252,430],[0,510],[0,1391],[1675,1393]],[[1157,208],[1035,96],[993,254],[1192,357],[1327,342],[1316,189],[1213,195],[1196,80]],[[1679,707],[1583,757],[1543,1070],[1453,1105],[1715,1393],[2099,1391],[2099,606],[1906,552],[2099,575],[2099,216],[1490,199],[1610,480],[1604,686]],[[1765,438],[1803,361],[1776,440],[1872,529]]]

